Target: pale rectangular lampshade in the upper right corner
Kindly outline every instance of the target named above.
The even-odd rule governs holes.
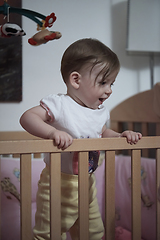
[[[129,0],[128,6],[128,51],[160,52],[160,1]]]

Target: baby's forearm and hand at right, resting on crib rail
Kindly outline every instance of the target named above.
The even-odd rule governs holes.
[[[141,138],[142,134],[139,132],[133,132],[133,131],[124,131],[122,133],[117,133],[111,129],[108,129],[106,126],[102,129],[102,137],[126,137],[127,142],[130,144],[136,144]]]

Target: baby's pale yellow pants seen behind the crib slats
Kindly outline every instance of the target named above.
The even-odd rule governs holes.
[[[61,175],[61,239],[66,239],[66,232],[70,232],[73,240],[78,240],[78,176]],[[89,239],[100,240],[104,234],[103,222],[96,198],[94,174],[89,175]],[[44,168],[37,192],[37,212],[34,239],[50,239],[50,203],[49,203],[49,170]]]

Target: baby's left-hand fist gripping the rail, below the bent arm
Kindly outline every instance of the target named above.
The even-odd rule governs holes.
[[[54,145],[57,146],[58,149],[62,150],[69,147],[73,142],[73,138],[68,133],[57,129],[50,133],[49,138],[53,139]]]

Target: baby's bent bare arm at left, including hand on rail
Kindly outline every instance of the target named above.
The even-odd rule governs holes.
[[[37,106],[29,109],[21,116],[20,124],[32,135],[53,139],[55,146],[62,150],[66,149],[72,144],[72,137],[68,133],[59,131],[49,125],[49,120],[46,110],[41,106]]]

